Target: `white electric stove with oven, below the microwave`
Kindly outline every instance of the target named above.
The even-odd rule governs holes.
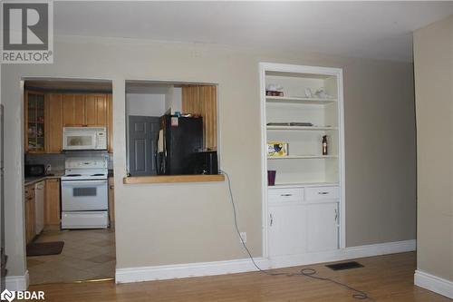
[[[68,158],[64,167],[62,229],[108,228],[108,158]]]

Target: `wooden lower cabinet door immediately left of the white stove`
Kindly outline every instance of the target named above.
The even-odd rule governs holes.
[[[60,180],[45,180],[44,228],[60,228]]]

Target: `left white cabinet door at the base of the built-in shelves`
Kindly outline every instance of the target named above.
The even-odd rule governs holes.
[[[269,207],[269,256],[301,254],[307,250],[305,205]]]

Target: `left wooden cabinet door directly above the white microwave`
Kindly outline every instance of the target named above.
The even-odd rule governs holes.
[[[85,124],[85,95],[63,94],[63,127]]]

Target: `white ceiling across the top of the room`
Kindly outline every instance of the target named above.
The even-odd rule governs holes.
[[[54,2],[56,34],[412,61],[412,32],[453,2]]]

